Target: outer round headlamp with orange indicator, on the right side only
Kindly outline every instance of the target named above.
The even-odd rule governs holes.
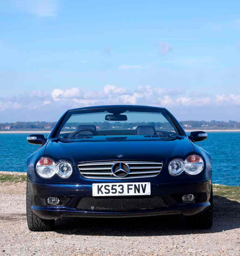
[[[204,162],[200,156],[192,155],[184,161],[184,171],[190,175],[199,174],[204,167]]]

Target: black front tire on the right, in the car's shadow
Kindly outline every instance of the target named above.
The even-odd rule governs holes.
[[[213,225],[213,187],[209,198],[211,206],[200,216],[187,217],[188,226],[197,229],[210,229]]]

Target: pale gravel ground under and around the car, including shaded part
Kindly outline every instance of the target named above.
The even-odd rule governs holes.
[[[31,232],[26,183],[0,184],[1,255],[240,255],[240,203],[214,196],[210,230],[190,230],[175,216],[66,219],[52,232]]]

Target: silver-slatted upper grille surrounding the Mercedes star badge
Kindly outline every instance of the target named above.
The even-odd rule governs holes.
[[[118,162],[121,161],[80,163],[78,164],[78,170],[82,176],[89,179],[132,179],[155,177],[163,167],[162,162],[123,161],[122,163],[128,164],[130,172],[126,177],[118,178],[111,171],[113,164]]]

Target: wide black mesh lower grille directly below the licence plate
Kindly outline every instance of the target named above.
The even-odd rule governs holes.
[[[83,197],[79,200],[77,210],[92,211],[131,211],[158,209],[167,207],[161,196],[131,198],[94,198]]]

